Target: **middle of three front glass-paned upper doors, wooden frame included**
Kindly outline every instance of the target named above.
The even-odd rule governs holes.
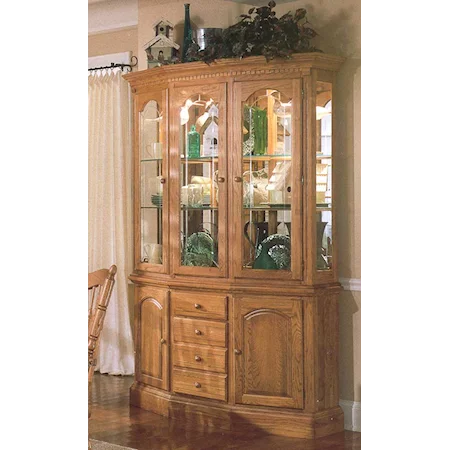
[[[176,273],[225,276],[227,147],[225,85],[175,90],[173,147]],[[178,238],[177,238],[178,235]]]

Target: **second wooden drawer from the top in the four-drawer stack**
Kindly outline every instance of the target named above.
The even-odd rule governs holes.
[[[184,317],[174,317],[172,323],[175,342],[226,347],[226,323]]]

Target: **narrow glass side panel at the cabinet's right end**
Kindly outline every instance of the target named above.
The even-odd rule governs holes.
[[[316,269],[333,264],[332,85],[318,81],[316,92]]]

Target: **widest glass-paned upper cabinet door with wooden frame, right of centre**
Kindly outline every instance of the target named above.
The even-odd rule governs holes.
[[[300,278],[300,80],[237,83],[235,270],[242,276]]]

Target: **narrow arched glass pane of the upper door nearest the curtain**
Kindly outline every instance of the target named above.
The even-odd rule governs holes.
[[[140,262],[162,264],[162,114],[156,101],[147,103],[140,121]]]

